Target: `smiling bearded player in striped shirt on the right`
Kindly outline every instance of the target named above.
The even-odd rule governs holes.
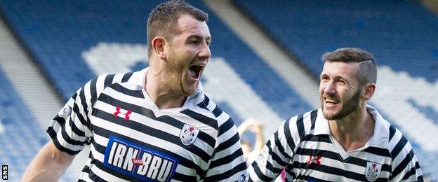
[[[358,48],[323,57],[321,109],[284,121],[248,169],[250,181],[423,181],[411,144],[368,100],[374,58]]]

